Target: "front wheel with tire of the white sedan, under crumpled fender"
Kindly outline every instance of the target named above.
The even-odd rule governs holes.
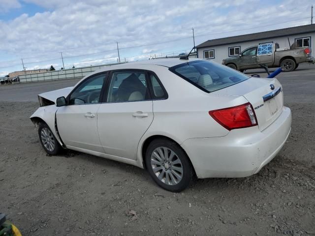
[[[39,140],[42,147],[50,155],[57,155],[62,147],[46,123],[41,123],[38,128]]]

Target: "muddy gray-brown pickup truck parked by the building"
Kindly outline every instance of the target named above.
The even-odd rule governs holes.
[[[314,63],[311,48],[279,48],[278,43],[266,43],[245,49],[240,55],[222,60],[223,65],[243,72],[261,68],[260,65],[281,67],[283,71],[295,70],[299,63]]]

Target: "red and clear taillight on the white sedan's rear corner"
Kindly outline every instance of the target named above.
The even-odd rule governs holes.
[[[210,111],[209,115],[228,130],[257,125],[251,103]]]

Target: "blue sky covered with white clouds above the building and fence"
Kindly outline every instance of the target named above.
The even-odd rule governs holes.
[[[0,0],[0,76],[178,55],[206,40],[311,23],[315,0]]]

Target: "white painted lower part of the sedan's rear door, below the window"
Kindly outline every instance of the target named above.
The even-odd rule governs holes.
[[[140,113],[148,116],[133,116],[133,114]],[[131,160],[138,159],[139,141],[152,121],[152,101],[100,104],[97,113],[97,126],[104,152]]]

